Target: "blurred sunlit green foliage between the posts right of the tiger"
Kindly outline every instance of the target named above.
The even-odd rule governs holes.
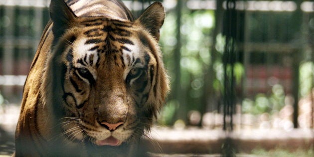
[[[212,86],[217,95],[223,93],[224,87],[224,65],[222,56],[226,46],[226,37],[219,33],[213,45],[213,29],[215,25],[215,16],[213,10],[182,10],[181,25],[180,25],[180,39],[176,38],[176,24],[177,14],[174,10],[167,12],[164,24],[160,32],[160,47],[164,55],[164,63],[170,76],[170,84],[173,89],[174,80],[179,80],[180,92],[178,94],[171,93],[168,104],[161,112],[160,123],[169,125],[173,123],[176,110],[180,109],[180,105],[185,105],[186,112],[189,110],[201,110],[201,105],[204,105],[202,99],[206,96],[204,89],[209,86],[205,73],[209,71],[209,67],[213,67],[213,82]],[[276,18],[277,19],[277,18]],[[250,19],[251,32],[259,29],[258,20]],[[256,28],[255,28],[256,27]],[[258,37],[258,36],[256,36]],[[256,38],[252,36],[252,40]],[[257,41],[258,39],[256,39]],[[230,42],[234,42],[231,41]],[[179,52],[175,52],[176,45],[180,43],[181,48]],[[237,44],[234,45],[237,51]],[[212,49],[214,47],[214,50]],[[227,47],[227,49],[230,46]],[[215,52],[213,52],[215,51]],[[174,59],[176,53],[180,53],[179,63]],[[213,55],[215,54],[215,55]],[[214,57],[214,58],[213,58]],[[175,76],[177,69],[176,65],[180,66],[180,76]],[[313,62],[302,62],[300,66],[300,94],[302,97],[307,96],[313,89],[314,76]],[[230,76],[233,71],[233,76]],[[236,86],[242,86],[242,79],[245,75],[244,65],[240,62],[232,65],[227,65],[228,78],[233,77]],[[176,77],[180,77],[176,79]],[[177,82],[176,82],[177,83]],[[272,90],[266,94],[257,94],[252,100],[246,98],[242,101],[243,113],[274,114],[279,112],[285,104],[286,94],[284,87],[276,84]],[[181,112],[183,113],[183,112]]]

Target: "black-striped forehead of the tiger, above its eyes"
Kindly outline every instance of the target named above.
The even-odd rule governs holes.
[[[116,65],[125,67],[131,61],[128,58],[138,57],[138,33],[132,22],[96,19],[81,24],[85,26],[72,46],[73,51],[67,55],[80,64],[77,66],[97,68],[114,61]]]

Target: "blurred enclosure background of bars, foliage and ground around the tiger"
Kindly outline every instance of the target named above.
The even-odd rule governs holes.
[[[123,1],[136,16],[153,2]],[[152,138],[164,153],[313,157],[314,2],[159,1],[171,93]],[[0,155],[12,152],[49,3],[0,0]]]

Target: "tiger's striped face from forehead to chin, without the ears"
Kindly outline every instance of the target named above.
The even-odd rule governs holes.
[[[102,24],[95,28],[95,23]],[[108,19],[95,23],[82,22],[85,27],[71,36],[76,39],[63,53],[63,99],[69,120],[75,117],[65,129],[80,126],[96,145],[118,146],[137,128],[148,128],[141,124],[151,123],[145,118],[153,118],[145,113],[152,110],[147,104],[153,101],[148,100],[154,97],[150,94],[157,92],[156,50],[145,45],[149,42],[145,32],[132,23]],[[71,136],[83,140],[83,132],[77,132]]]

